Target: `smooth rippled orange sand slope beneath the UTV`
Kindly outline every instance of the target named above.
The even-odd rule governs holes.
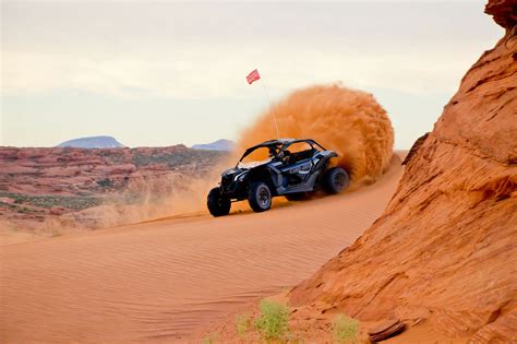
[[[165,220],[0,248],[0,342],[185,340],[309,277],[382,213],[375,185],[263,214]]]

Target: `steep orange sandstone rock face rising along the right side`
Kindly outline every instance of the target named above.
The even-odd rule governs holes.
[[[297,286],[291,305],[517,341],[515,3],[486,5],[506,35],[467,72],[384,214]]]

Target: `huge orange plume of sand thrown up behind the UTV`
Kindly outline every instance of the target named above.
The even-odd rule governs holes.
[[[320,142],[339,155],[354,183],[372,182],[389,166],[394,134],[392,122],[373,95],[337,84],[318,85],[291,93],[244,130],[237,152],[280,137]]]

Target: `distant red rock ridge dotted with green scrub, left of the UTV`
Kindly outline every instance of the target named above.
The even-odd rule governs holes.
[[[163,195],[172,177],[199,177],[225,153],[183,145],[139,149],[0,147],[0,218],[43,222],[93,207],[107,197]],[[158,187],[159,186],[159,187]],[[153,189],[154,188],[154,189]]]

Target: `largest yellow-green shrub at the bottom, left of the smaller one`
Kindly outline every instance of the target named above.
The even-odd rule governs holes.
[[[266,340],[279,340],[289,331],[289,308],[273,300],[261,300],[261,318],[255,328]]]

